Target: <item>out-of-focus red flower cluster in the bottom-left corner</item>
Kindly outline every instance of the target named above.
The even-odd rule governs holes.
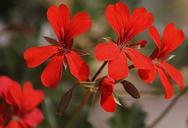
[[[0,76],[0,128],[35,128],[44,119],[37,106],[44,99],[30,82],[23,88],[7,76]]]

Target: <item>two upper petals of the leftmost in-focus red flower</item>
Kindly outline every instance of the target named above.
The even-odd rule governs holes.
[[[91,20],[86,12],[76,13],[71,18],[69,8],[64,4],[59,7],[50,6],[47,17],[58,38],[59,45],[67,49],[72,48],[74,37],[91,27]]]

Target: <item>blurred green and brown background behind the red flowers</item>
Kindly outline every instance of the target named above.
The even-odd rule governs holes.
[[[123,0],[122,0],[123,1]],[[51,4],[67,4],[72,14],[77,11],[87,11],[93,21],[90,31],[76,38],[74,47],[84,49],[90,56],[84,56],[91,68],[91,75],[101,65],[93,56],[97,43],[103,42],[103,37],[115,37],[111,28],[105,20],[104,11],[109,3],[118,0],[2,0],[0,4],[0,75],[8,75],[12,79],[24,83],[32,81],[35,88],[45,91],[45,101],[41,109],[45,115],[44,122],[39,128],[65,128],[71,112],[79,105],[83,98],[84,89],[79,87],[73,96],[70,107],[60,117],[56,115],[56,109],[61,96],[71,87],[75,79],[66,70],[60,85],[54,90],[44,88],[40,81],[40,74],[46,64],[28,69],[23,60],[23,52],[31,46],[47,45],[43,36],[55,37],[50,28],[46,10]],[[136,7],[144,6],[155,16],[155,25],[162,32],[166,23],[174,22],[177,27],[188,33],[188,0],[124,0],[133,10]],[[150,40],[147,32],[137,36],[135,40],[146,39],[148,45],[142,52],[149,55],[154,50],[154,43]],[[170,61],[179,68],[187,81],[188,75],[188,46],[187,41],[179,47],[174,54],[176,57]],[[105,74],[105,71],[103,72]],[[134,83],[141,91],[141,99],[134,100],[127,94],[122,93],[121,88],[116,89],[122,98],[124,107],[117,107],[113,114],[105,113],[99,104],[91,108],[90,103],[72,124],[73,128],[145,128],[148,123],[154,120],[157,115],[170,102],[163,99],[161,85],[156,81],[152,86],[144,84],[133,71],[128,80]],[[186,82],[187,83],[187,82]],[[175,88],[176,89],[176,88]],[[177,91],[179,91],[177,89]],[[153,93],[152,93],[153,92]],[[177,128],[187,127],[188,118],[188,97],[176,105],[171,112],[157,127]],[[170,115],[169,114],[169,115]],[[178,118],[172,122],[173,116]],[[171,123],[170,123],[171,122]]]

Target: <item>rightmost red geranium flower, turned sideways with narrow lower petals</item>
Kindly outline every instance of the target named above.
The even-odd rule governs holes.
[[[175,28],[174,24],[168,24],[163,32],[163,37],[160,39],[159,32],[154,26],[149,30],[150,37],[154,40],[157,48],[150,56],[155,68],[150,70],[139,70],[139,75],[147,83],[155,80],[156,74],[159,74],[160,81],[165,90],[165,98],[171,98],[173,95],[173,88],[169,80],[169,76],[184,89],[183,76],[181,73],[168,64],[167,61],[172,57],[170,53],[174,51],[185,39],[182,30]]]

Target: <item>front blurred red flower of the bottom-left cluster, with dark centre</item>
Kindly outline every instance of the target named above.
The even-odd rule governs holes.
[[[6,103],[11,110],[11,112],[7,111],[9,114],[7,118],[10,122],[6,128],[33,128],[38,126],[44,117],[37,106],[43,99],[43,92],[34,90],[30,82],[24,84],[23,90],[18,83],[13,82],[5,94]]]

